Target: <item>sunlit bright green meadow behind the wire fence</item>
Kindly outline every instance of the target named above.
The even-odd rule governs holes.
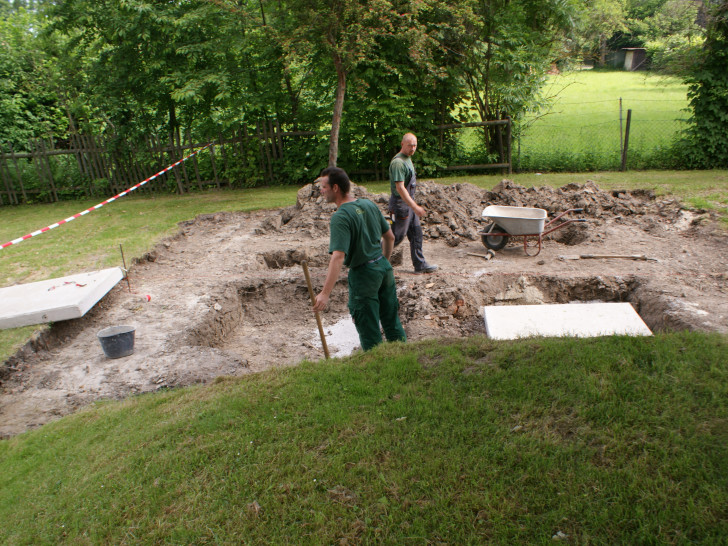
[[[550,76],[544,95],[550,110],[525,120],[520,169],[607,170],[621,163],[620,130],[632,110],[628,166],[670,167],[670,146],[687,119],[687,86],[648,72],[583,70]],[[622,99],[620,126],[619,100]],[[620,129],[620,127],[622,127]]]

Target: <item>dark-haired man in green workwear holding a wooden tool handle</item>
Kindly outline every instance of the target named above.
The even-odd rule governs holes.
[[[389,257],[394,234],[377,206],[368,199],[356,199],[349,192],[351,182],[343,169],[328,167],[318,178],[321,195],[337,210],[331,216],[329,269],[324,287],[316,296],[314,311],[322,311],[329,301],[341,266],[349,268],[349,313],[354,319],[362,349],[368,351],[382,342],[406,341],[399,321],[399,300]]]

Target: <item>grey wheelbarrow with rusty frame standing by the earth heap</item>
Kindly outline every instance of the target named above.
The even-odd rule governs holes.
[[[573,222],[586,222],[586,220],[572,218],[562,220],[561,223],[556,225],[554,223],[569,213],[583,211],[584,209],[569,209],[547,222],[548,214],[544,209],[490,205],[485,207],[482,214],[484,219],[490,220],[490,223],[478,234],[486,248],[491,250],[500,250],[506,246],[510,237],[523,237],[523,251],[526,255],[538,256],[539,252],[541,252],[541,242],[544,235],[548,235]],[[528,250],[529,238],[531,243],[538,243],[535,254]]]

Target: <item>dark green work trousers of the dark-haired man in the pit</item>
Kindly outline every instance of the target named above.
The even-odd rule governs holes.
[[[380,322],[387,341],[407,341],[398,312],[394,272],[386,258],[349,269],[349,313],[362,349],[382,342]]]

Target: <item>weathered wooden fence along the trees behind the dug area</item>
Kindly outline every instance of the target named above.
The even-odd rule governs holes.
[[[495,168],[511,172],[510,119],[441,125],[437,130],[442,142],[442,135],[449,130],[491,126],[497,129],[499,163],[453,165],[442,170]],[[205,188],[280,183],[282,175],[279,171],[286,165],[290,144],[294,141],[301,144],[301,139],[313,139],[312,146],[315,146],[325,143],[328,134],[284,131],[275,120],[259,122],[253,127],[241,124],[227,136],[219,135],[209,152],[193,156],[142,186],[140,191],[183,194]],[[164,141],[150,135],[141,145],[75,133],[61,148],[50,139],[33,140],[29,152],[17,152],[12,147],[0,148],[0,205],[115,195],[175,163],[191,150],[207,144],[193,142],[189,133],[183,137],[179,132]],[[310,161],[313,171],[316,168],[313,164],[315,157],[311,157]],[[352,174],[364,173],[386,176],[385,163],[380,160],[373,170],[352,171]]]

